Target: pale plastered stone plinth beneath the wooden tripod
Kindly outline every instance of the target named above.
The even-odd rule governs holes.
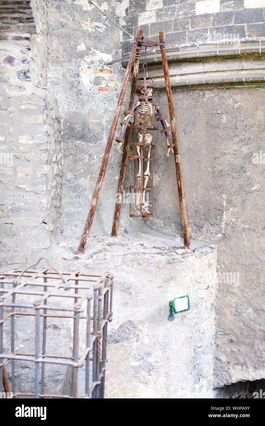
[[[207,397],[215,349],[216,250],[158,232],[91,238],[86,253],[59,246],[60,267],[115,276],[108,330],[106,397]],[[72,250],[72,251],[71,251]],[[188,294],[190,310],[169,322],[169,300]]]

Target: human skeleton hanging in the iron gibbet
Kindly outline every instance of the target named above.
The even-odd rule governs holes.
[[[136,145],[137,154],[140,156],[140,148],[147,148],[148,154],[147,154],[147,167],[145,172],[143,173],[144,182],[143,182],[143,196],[142,196],[142,203],[141,203],[141,158],[139,158],[139,167],[138,167],[138,173],[137,173],[137,179],[138,179],[138,189],[137,189],[137,199],[136,199],[136,205],[135,210],[140,209],[142,204],[142,213],[150,213],[149,208],[152,207],[149,205],[150,201],[145,200],[145,193],[146,193],[146,187],[148,183],[148,179],[150,176],[150,158],[151,158],[151,150],[154,149],[156,146],[156,143],[153,142],[153,134],[147,133],[147,128],[151,128],[150,130],[158,130],[158,127],[155,127],[155,122],[161,121],[162,124],[162,130],[161,132],[164,132],[167,137],[167,156],[169,156],[170,150],[173,152],[173,144],[170,141],[170,126],[167,123],[165,117],[163,117],[161,113],[161,109],[153,103],[153,84],[147,83],[147,77],[144,76],[143,84],[138,84],[137,89],[140,91],[140,98],[137,99],[135,104],[132,106],[132,109],[130,111],[126,111],[125,114],[126,117],[124,118],[124,121],[122,121],[121,126],[121,133],[118,138],[116,138],[116,141],[118,142],[117,149],[119,153],[122,153],[121,151],[121,145],[123,143],[123,137],[124,133],[130,125],[132,118],[134,117],[134,127],[138,129],[138,143],[141,145]],[[149,80],[149,79],[148,79]],[[146,144],[146,146],[143,146],[142,144]]]

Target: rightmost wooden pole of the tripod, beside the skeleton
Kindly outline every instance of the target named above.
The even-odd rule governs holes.
[[[159,42],[164,43],[164,41],[165,41],[164,32],[160,31]],[[179,191],[179,205],[180,205],[183,234],[184,234],[184,247],[190,248],[189,228],[188,228],[188,222],[187,222],[184,191],[183,191],[183,185],[182,185],[181,167],[180,167],[180,160],[179,160],[179,146],[178,146],[178,139],[177,139],[177,132],[176,132],[176,120],[175,120],[175,113],[174,113],[174,107],[173,107],[173,101],[172,101],[172,92],[171,92],[171,86],[170,86],[170,78],[169,78],[169,72],[168,72],[168,66],[167,66],[166,48],[165,46],[160,46],[160,49],[161,49],[161,56],[162,56],[162,62],[163,62],[163,68],[164,68],[164,78],[166,83],[172,141],[174,144],[173,150],[174,150],[177,184],[178,184],[178,191]]]

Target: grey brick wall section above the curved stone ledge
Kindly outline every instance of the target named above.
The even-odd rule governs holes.
[[[164,31],[167,46],[192,46],[264,40],[265,2],[253,0],[146,0],[129,1],[124,28],[134,35],[137,26],[144,35],[158,40]],[[123,43],[130,52],[129,36]]]

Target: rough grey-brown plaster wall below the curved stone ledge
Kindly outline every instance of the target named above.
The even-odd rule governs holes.
[[[173,92],[190,233],[218,245],[216,386],[265,374],[264,94],[264,87]],[[166,110],[164,92],[156,101]],[[165,153],[160,142],[149,225],[179,232],[173,159]]]

